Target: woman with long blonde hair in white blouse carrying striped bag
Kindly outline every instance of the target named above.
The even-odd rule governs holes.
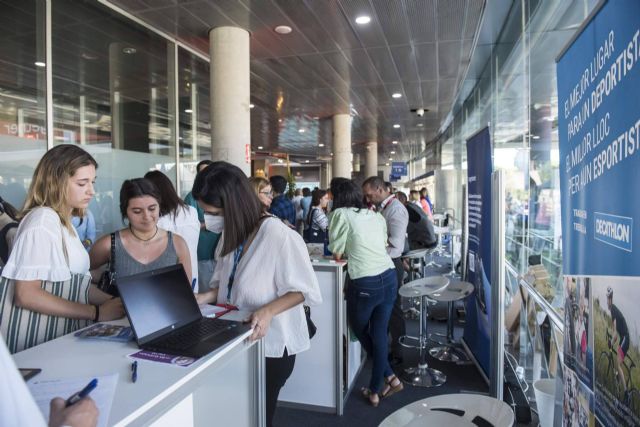
[[[124,315],[120,299],[90,286],[89,254],[71,223],[95,194],[97,167],[89,153],[65,144],[47,151],[34,171],[0,281],[0,329],[12,352],[72,332],[82,326],[77,320]]]

